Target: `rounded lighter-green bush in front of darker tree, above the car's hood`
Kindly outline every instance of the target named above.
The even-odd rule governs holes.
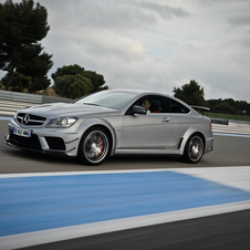
[[[59,95],[75,100],[88,94],[93,90],[93,85],[90,79],[76,74],[58,76],[53,88]]]

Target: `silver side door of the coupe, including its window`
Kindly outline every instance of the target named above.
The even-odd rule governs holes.
[[[150,100],[149,114],[132,114],[134,105]],[[153,105],[154,104],[154,105]],[[153,108],[154,106],[154,108]],[[123,117],[122,149],[164,149],[171,136],[173,121],[166,113],[162,96],[144,96],[135,102]]]

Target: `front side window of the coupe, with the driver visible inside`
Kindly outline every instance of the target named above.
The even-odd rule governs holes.
[[[137,100],[126,112],[126,115],[132,114],[133,106],[143,106],[147,111],[147,114],[150,113],[164,113],[164,98],[157,95],[146,95]]]

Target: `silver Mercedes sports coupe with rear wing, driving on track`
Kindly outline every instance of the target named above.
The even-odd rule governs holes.
[[[212,150],[210,119],[165,94],[107,90],[73,103],[19,110],[6,144],[79,157],[87,165],[121,154],[179,155],[198,163]]]

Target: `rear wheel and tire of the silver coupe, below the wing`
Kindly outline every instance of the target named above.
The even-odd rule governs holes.
[[[196,164],[204,156],[204,139],[201,135],[194,134],[187,142],[184,152],[186,163]]]

